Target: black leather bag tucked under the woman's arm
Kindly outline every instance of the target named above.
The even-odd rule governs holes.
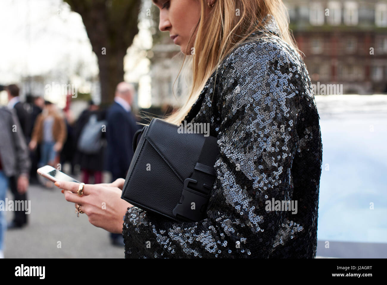
[[[182,128],[179,133],[179,128],[153,118],[135,133],[121,198],[175,221],[200,221],[207,216],[217,141],[213,136],[182,133]]]

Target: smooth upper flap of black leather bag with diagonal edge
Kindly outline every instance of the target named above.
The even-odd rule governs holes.
[[[194,171],[205,137],[204,134],[185,134],[178,130],[178,125],[153,118],[145,139],[183,182]]]

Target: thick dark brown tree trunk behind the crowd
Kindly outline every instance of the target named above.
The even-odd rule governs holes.
[[[123,81],[123,58],[138,33],[141,0],[64,0],[81,15],[97,55],[101,105],[113,101],[116,85]]]

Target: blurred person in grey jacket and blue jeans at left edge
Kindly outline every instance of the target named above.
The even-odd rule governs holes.
[[[14,200],[27,201],[28,173],[31,162],[26,141],[22,134],[19,120],[13,110],[0,108],[0,201],[4,207],[5,193],[10,186],[15,188]],[[3,257],[4,232],[7,228],[5,213],[0,207],[0,258]],[[16,210],[16,209],[15,209]],[[14,219],[8,225],[9,229],[21,228],[27,223],[26,213],[15,211]]]

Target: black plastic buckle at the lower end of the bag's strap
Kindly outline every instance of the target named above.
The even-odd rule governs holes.
[[[182,197],[173,209],[173,215],[176,218],[186,221],[203,220],[206,215],[205,211],[209,202],[209,196],[203,196],[203,194],[188,188],[188,183],[197,184],[197,180],[191,178],[184,180]]]

